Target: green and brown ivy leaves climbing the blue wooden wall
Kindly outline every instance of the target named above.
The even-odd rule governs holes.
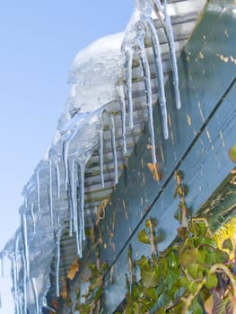
[[[179,237],[163,252],[158,251],[158,237],[153,218],[145,222],[138,233],[138,240],[151,248],[150,257],[133,259],[132,248],[127,251],[129,274],[127,275],[126,303],[116,313],[124,314],[232,314],[236,312],[236,282],[234,260],[218,249],[214,235],[204,218],[189,218],[185,196],[188,188],[182,183],[183,173],[175,175],[179,197]],[[81,313],[101,313],[103,276],[107,265],[101,265],[98,247],[92,231],[93,247],[97,248],[97,262],[90,264],[90,287],[77,302]],[[96,237],[95,237],[96,238]],[[233,251],[232,240],[223,241],[223,249]],[[139,268],[140,277],[136,279]],[[80,300],[80,296],[77,297]]]

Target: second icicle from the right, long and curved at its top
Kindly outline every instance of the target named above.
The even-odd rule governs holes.
[[[145,25],[147,30],[150,33],[152,43],[153,43],[153,59],[157,76],[158,83],[158,93],[159,93],[159,104],[161,106],[162,111],[162,126],[163,126],[163,135],[165,139],[169,138],[169,130],[168,130],[168,117],[167,117],[167,109],[166,109],[166,98],[165,98],[165,90],[164,90],[164,77],[163,77],[163,68],[162,68],[162,53],[160,42],[158,39],[157,31],[153,25],[153,21],[151,19],[147,19],[145,21]]]

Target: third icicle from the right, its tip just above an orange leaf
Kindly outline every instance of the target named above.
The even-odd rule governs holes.
[[[156,163],[157,161],[156,161],[156,155],[155,155],[155,135],[154,135],[154,127],[153,127],[153,101],[152,101],[151,74],[150,74],[148,59],[147,59],[146,52],[144,49],[144,43],[140,44],[139,57],[140,57],[142,69],[144,72],[144,86],[145,86],[145,95],[146,95],[146,103],[147,103],[147,108],[148,108],[148,119],[149,119],[148,122],[149,122],[151,144],[152,144],[152,160],[153,160],[153,163]]]

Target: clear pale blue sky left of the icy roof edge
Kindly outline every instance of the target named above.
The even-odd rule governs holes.
[[[22,188],[52,141],[74,56],[93,40],[123,31],[134,3],[0,1],[0,250],[19,226]]]

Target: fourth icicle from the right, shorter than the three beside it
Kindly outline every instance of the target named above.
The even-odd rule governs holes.
[[[129,113],[129,127],[134,127],[133,115],[133,96],[132,96],[132,65],[134,52],[132,48],[127,48],[126,56],[126,86],[127,86],[127,100],[128,100],[128,113]]]

